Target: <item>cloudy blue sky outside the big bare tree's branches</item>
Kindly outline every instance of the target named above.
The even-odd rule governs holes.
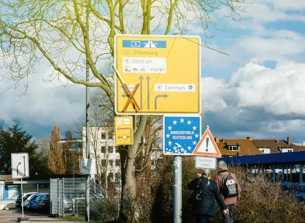
[[[215,13],[216,36],[208,40],[223,55],[202,47],[203,125],[220,138],[287,139],[305,141],[305,1],[254,0],[246,5],[241,21]],[[199,24],[188,35],[202,36]],[[11,87],[0,71],[0,123],[20,122],[35,139],[50,135],[85,111],[85,87],[68,85],[59,78],[45,82],[47,65],[28,79],[26,95],[19,101],[24,84]],[[93,89],[91,90],[93,91]]]

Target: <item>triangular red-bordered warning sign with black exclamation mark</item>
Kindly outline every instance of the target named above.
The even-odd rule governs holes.
[[[212,137],[211,132],[209,131],[208,126],[200,141],[196,145],[193,154],[221,157],[221,153],[216,145],[214,138]]]

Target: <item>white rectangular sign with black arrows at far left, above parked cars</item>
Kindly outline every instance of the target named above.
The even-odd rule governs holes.
[[[11,153],[12,178],[28,178],[28,153]]]

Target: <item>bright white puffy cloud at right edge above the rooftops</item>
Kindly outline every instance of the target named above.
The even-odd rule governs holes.
[[[274,115],[305,117],[305,64],[284,63],[275,70],[249,63],[232,75],[238,107],[260,107]]]

